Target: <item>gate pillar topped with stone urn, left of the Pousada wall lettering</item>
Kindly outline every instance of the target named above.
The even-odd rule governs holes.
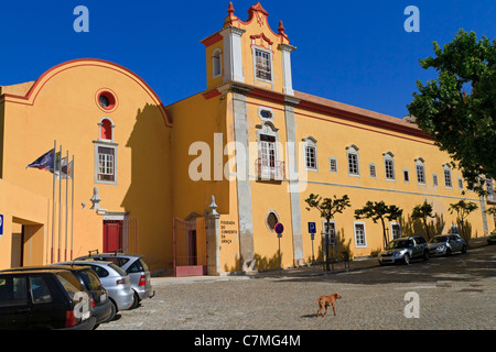
[[[207,240],[207,275],[220,275],[220,215],[217,212],[215,198],[212,196],[212,202],[208,206],[206,216],[206,240]]]

